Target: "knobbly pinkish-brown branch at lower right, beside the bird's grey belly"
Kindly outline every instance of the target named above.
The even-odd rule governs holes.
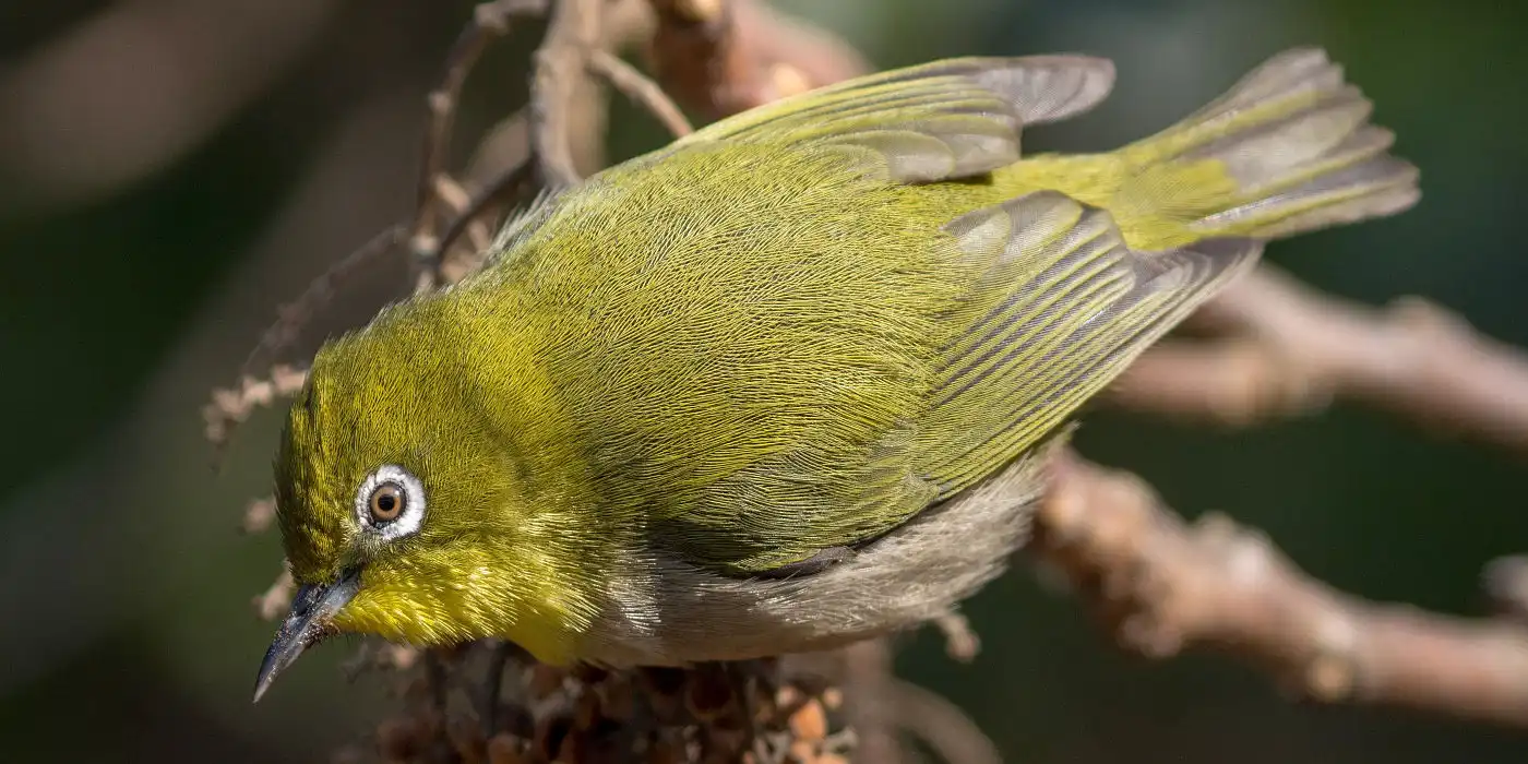
[[[1309,698],[1528,727],[1528,628],[1334,591],[1265,538],[1215,515],[1193,526],[1137,477],[1054,466],[1036,550],[1099,607],[1122,645],[1201,645],[1265,666]]]

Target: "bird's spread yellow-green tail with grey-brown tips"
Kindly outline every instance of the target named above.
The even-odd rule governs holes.
[[[1386,153],[1395,136],[1368,124],[1371,110],[1326,53],[1284,52],[1117,153],[1109,211],[1146,248],[1276,238],[1400,212],[1420,196],[1418,173]]]

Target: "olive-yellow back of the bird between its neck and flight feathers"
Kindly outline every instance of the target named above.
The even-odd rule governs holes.
[[[874,536],[912,469],[944,316],[970,281],[947,203],[851,157],[686,151],[564,197],[498,263],[613,523],[776,567]]]

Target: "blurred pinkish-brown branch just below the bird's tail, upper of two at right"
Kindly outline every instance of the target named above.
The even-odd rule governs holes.
[[[1114,400],[1247,425],[1339,396],[1528,452],[1528,354],[1430,303],[1374,310],[1265,266],[1195,322],[1222,339],[1157,345],[1114,387]]]

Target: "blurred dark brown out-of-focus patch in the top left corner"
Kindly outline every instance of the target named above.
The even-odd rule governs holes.
[[[89,8],[99,11],[0,67],[5,206],[87,203],[176,162],[290,72],[342,3]]]

